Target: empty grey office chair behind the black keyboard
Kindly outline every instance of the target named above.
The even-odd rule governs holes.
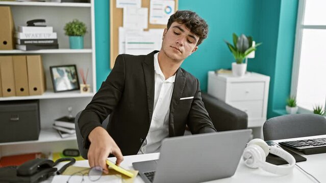
[[[307,137],[326,134],[326,118],[318,114],[287,114],[264,123],[264,140]]]

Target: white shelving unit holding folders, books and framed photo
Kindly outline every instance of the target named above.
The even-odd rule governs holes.
[[[47,26],[53,26],[59,43],[59,49],[52,50],[0,50],[0,55],[40,54],[47,86],[46,92],[40,96],[0,97],[0,101],[39,99],[41,123],[39,140],[0,143],[0,157],[37,151],[44,153],[62,151],[68,147],[77,148],[76,137],[62,139],[52,129],[52,124],[54,119],[68,115],[67,108],[70,106],[73,115],[83,110],[96,92],[94,0],[90,3],[0,1],[0,6],[11,7],[16,27],[26,25],[26,22],[31,19],[45,19]],[[87,26],[84,49],[69,49],[69,38],[64,35],[63,27],[73,19],[79,19]],[[78,70],[83,69],[84,72],[89,69],[87,83],[91,86],[91,93],[81,94],[77,90],[54,93],[49,67],[58,65],[76,65]],[[82,82],[80,76],[79,81]]]

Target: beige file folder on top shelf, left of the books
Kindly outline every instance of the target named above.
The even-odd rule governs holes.
[[[15,24],[9,6],[0,6],[0,50],[15,49]]]

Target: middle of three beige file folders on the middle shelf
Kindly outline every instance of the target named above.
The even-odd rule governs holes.
[[[28,75],[26,55],[12,56],[14,63],[16,96],[28,96]]]

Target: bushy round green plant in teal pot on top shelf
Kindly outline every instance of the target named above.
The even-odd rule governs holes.
[[[69,36],[70,49],[84,48],[84,35],[87,33],[85,23],[74,19],[64,26],[65,35]]]

